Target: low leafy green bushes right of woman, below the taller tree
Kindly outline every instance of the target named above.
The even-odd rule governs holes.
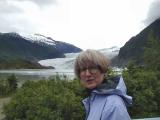
[[[160,115],[159,73],[147,71],[136,65],[129,65],[123,72],[128,94],[133,97],[131,116],[154,117]]]

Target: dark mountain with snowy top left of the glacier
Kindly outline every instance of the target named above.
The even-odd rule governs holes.
[[[2,63],[4,66],[5,63],[18,60],[18,63],[28,61],[32,64],[41,59],[64,57],[65,53],[80,51],[81,49],[74,45],[40,34],[0,33],[0,68]]]

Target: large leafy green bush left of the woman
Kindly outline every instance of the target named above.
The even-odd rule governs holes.
[[[82,91],[78,80],[58,76],[27,81],[4,107],[6,120],[82,120]]]

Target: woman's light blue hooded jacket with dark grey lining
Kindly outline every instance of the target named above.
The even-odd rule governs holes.
[[[106,80],[92,90],[90,97],[83,100],[86,120],[131,120],[126,106],[132,104],[132,97],[126,95],[122,77]]]

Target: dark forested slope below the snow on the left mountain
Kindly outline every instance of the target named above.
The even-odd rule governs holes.
[[[0,58],[20,58],[25,60],[39,60],[62,57],[63,52],[54,46],[36,44],[27,41],[17,33],[0,34]]]

